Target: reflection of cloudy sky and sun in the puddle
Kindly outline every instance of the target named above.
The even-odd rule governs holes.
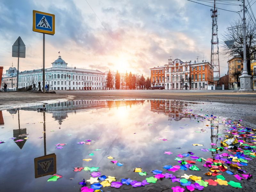
[[[65,105],[61,106],[60,104],[59,107],[65,108]],[[146,101],[143,105],[140,101],[111,101],[104,102],[104,105],[101,103],[102,108],[92,109],[87,107],[76,109],[76,113],[74,113],[75,106],[67,109],[67,116],[61,119],[61,125],[59,124],[60,118],[56,117],[61,117],[58,116],[58,113],[63,111],[59,110],[58,106],[52,108],[56,116],[52,115],[51,110],[45,113],[47,154],[56,154],[57,173],[65,175],[62,180],[58,180],[60,185],[70,182],[68,178],[74,178],[77,182],[90,177],[88,172],[73,172],[73,168],[78,166],[99,166],[99,171],[102,174],[116,176],[119,179],[128,176],[134,178],[138,177],[137,173],[132,172],[135,167],[142,167],[143,171],[150,172],[152,169],[161,169],[165,164],[178,164],[174,161],[175,155],[178,153],[193,151],[197,156],[205,157],[210,154],[200,151],[197,146],[191,145],[192,143],[203,143],[205,145],[203,148],[210,147],[208,146],[210,143],[210,129],[204,128],[204,124],[210,124],[210,122],[197,124],[197,119],[192,118],[193,121],[190,121],[190,118],[177,114],[176,108],[170,108],[175,113],[167,113],[166,105],[165,107],[161,106],[160,110],[162,111],[152,111],[151,103]],[[97,105],[94,107],[97,107]],[[159,109],[156,106],[154,110]],[[178,113],[180,113],[180,110],[178,110]],[[1,130],[1,135],[9,139],[12,137],[12,129],[18,127],[17,114],[13,115],[13,119],[6,111],[3,114],[6,128]],[[2,163],[10,167],[10,172],[17,172],[17,177],[20,177],[22,185],[26,184],[31,188],[34,185],[43,187],[46,179],[33,179],[33,160],[35,157],[44,154],[43,139],[37,139],[39,136],[43,136],[43,124],[38,123],[43,121],[43,114],[31,110],[20,110],[20,119],[20,127],[27,128],[27,133],[30,134],[29,139],[22,150],[17,145],[15,146],[15,143],[12,143],[13,141],[6,140],[7,147],[1,148],[5,157],[1,158],[3,159]],[[181,120],[176,121],[175,119]],[[29,124],[26,124],[28,122]],[[189,126],[185,126],[185,124]],[[184,127],[184,129],[180,129],[180,127]],[[195,133],[199,130],[197,127],[206,129],[207,133]],[[55,132],[50,132],[51,130],[55,130]],[[68,134],[72,135],[68,136]],[[157,138],[166,138],[168,141],[158,140]],[[92,144],[76,144],[85,139],[93,140]],[[67,143],[67,145],[58,150],[54,146],[57,143]],[[177,149],[177,147],[181,147],[181,149]],[[102,150],[94,151],[97,148]],[[10,150],[12,153],[9,153]],[[166,155],[164,151],[171,151],[173,154]],[[94,153],[94,156],[89,156],[90,153]],[[115,157],[115,160],[124,165],[118,167],[116,164],[110,163],[111,160],[107,159],[109,155]],[[92,161],[82,160],[89,157],[92,158]],[[15,165],[20,165],[18,170],[12,164],[13,162]],[[29,163],[24,164],[24,162]],[[24,173],[22,170],[27,171]],[[0,173],[3,174],[2,171]],[[8,174],[7,178],[11,179],[11,174]],[[44,189],[49,188],[50,190],[50,186],[52,184],[47,183]],[[78,187],[75,185],[75,188]],[[69,186],[67,186],[68,188]]]

